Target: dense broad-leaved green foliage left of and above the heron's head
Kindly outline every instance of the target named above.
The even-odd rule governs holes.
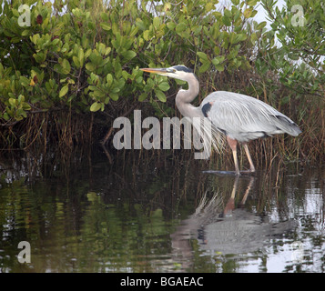
[[[31,25],[20,26],[20,1],[5,2],[0,15],[2,124],[39,110],[109,111],[107,105],[117,103],[127,111],[137,101],[166,102],[168,81],[150,75],[144,80],[142,66],[185,64],[198,66],[198,74],[249,68],[244,52],[254,40],[245,24],[256,14],[256,1],[234,1],[223,14],[215,9],[217,0],[66,3],[28,1],[34,4]]]

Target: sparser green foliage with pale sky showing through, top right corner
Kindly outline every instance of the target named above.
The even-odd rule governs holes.
[[[267,57],[259,58],[261,71],[279,74],[279,81],[296,95],[325,95],[325,5],[317,0],[286,0],[281,10],[273,0],[262,0],[272,21],[261,41]],[[275,36],[279,44],[275,43]]]

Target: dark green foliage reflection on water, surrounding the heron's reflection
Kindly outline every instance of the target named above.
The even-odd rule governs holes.
[[[245,257],[218,253],[212,254],[211,260],[200,249],[197,231],[193,237],[180,236],[190,246],[187,264],[173,253],[171,234],[180,221],[195,212],[203,194],[209,199],[218,193],[227,201],[233,188],[232,176],[198,174],[201,168],[191,160],[178,164],[165,160],[159,165],[156,161],[138,161],[136,156],[136,164],[132,163],[134,156],[124,156],[124,163],[107,166],[102,156],[90,165],[87,160],[74,158],[66,169],[56,161],[42,179],[30,175],[28,183],[19,178],[19,174],[28,173],[19,169],[18,163],[16,172],[11,170],[10,180],[6,174],[9,171],[2,170],[6,175],[0,180],[3,271],[233,272],[247,264]],[[321,237],[315,233],[323,221],[313,214],[305,217],[301,210],[306,205],[305,187],[312,184],[321,188],[320,182],[310,183],[317,181],[313,175],[314,169],[306,172],[303,179],[283,172],[259,176],[245,207],[262,217],[271,214],[286,220],[297,216],[301,229],[293,236],[302,236],[301,240],[308,237],[312,246],[322,246]],[[235,206],[240,204],[248,182],[245,178],[240,180]],[[292,189],[298,191],[294,197]],[[218,218],[218,214],[211,215]],[[16,246],[21,240],[31,243],[30,265],[16,260]],[[275,242],[274,247],[280,252],[278,245]],[[267,264],[267,257],[259,253],[254,256],[257,260],[262,256],[260,261]]]

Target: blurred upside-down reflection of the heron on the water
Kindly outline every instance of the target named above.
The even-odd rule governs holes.
[[[245,207],[257,177],[236,176],[235,172],[229,171],[205,173],[235,176],[234,184],[227,203],[223,203],[223,195],[219,193],[210,199],[204,195],[195,213],[183,220],[171,235],[173,256],[178,264],[182,263],[184,270],[191,268],[193,262],[192,239],[198,241],[199,251],[206,256],[239,255],[263,251],[272,238],[295,229],[294,220],[271,223],[265,216]],[[239,180],[242,179],[249,179],[249,184],[245,191],[239,192]],[[237,206],[236,196],[239,198]]]

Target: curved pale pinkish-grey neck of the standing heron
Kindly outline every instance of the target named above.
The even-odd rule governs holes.
[[[175,102],[181,115],[186,117],[202,117],[199,107],[190,104],[199,92],[198,79],[195,75],[188,79],[188,90],[179,90]]]

